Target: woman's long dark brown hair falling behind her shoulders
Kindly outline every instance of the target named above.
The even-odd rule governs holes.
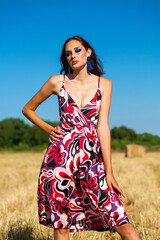
[[[88,48],[90,48],[92,50],[92,53],[91,53],[90,57],[91,57],[91,65],[93,66],[94,69],[89,71],[89,72],[91,72],[91,73],[93,73],[97,76],[100,76],[100,77],[102,75],[104,75],[105,73],[103,72],[102,62],[98,58],[98,56],[96,55],[94,49],[91,47],[91,45],[84,38],[82,38],[80,36],[77,36],[77,35],[73,36],[71,38],[68,38],[63,45],[63,49],[62,49],[62,53],[61,53],[61,57],[60,57],[60,62],[61,62],[61,65],[62,65],[62,69],[61,69],[60,73],[61,74],[63,72],[65,72],[65,74],[73,73],[73,69],[69,66],[66,55],[65,55],[65,46],[71,40],[77,40],[83,45],[83,47],[86,50],[88,50]]]

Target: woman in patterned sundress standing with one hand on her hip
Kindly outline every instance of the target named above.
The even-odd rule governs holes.
[[[140,239],[124,210],[124,196],[113,175],[108,124],[112,82],[94,49],[80,36],[66,40],[61,53],[64,75],[51,76],[24,106],[23,114],[49,134],[38,179],[39,223],[54,228],[55,240],[69,231],[118,232]],[[35,113],[49,96],[59,101],[60,127]]]

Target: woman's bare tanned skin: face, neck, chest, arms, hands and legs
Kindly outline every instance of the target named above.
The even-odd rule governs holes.
[[[81,51],[76,49],[80,48]],[[65,46],[65,53],[70,67],[73,69],[73,74],[65,75],[65,87],[69,95],[72,96],[77,106],[81,109],[85,106],[95,95],[97,91],[98,76],[87,71],[87,56],[91,55],[91,49],[85,49],[83,45],[77,40],[69,41]],[[74,64],[72,61],[77,60]],[[31,100],[24,106],[23,114],[36,126],[49,134],[49,141],[59,141],[63,138],[63,131],[60,127],[52,127],[44,122],[35,113],[37,107],[45,101],[52,94],[58,95],[62,86],[63,76],[51,76],[41,87],[41,89],[31,98]],[[77,91],[78,89],[78,91]],[[119,197],[125,197],[122,189],[119,187],[112,170],[111,164],[111,137],[109,129],[109,110],[111,104],[112,82],[107,78],[100,78],[100,90],[102,94],[101,106],[99,110],[99,120],[97,126],[97,135],[101,144],[101,150],[104,159],[106,170],[106,180],[110,191],[116,189]],[[131,224],[125,223],[120,226],[114,226],[114,229],[123,240],[139,240],[139,236]],[[69,229],[54,229],[55,240],[69,240]]]

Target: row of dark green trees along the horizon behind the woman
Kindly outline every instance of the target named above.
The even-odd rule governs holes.
[[[46,121],[53,127],[60,122]],[[147,150],[160,149],[160,137],[150,133],[137,134],[126,126],[111,129],[111,148],[124,150],[126,144],[140,144]],[[49,144],[49,136],[35,125],[29,125],[19,118],[7,118],[0,121],[0,151],[2,150],[35,150],[42,151]]]

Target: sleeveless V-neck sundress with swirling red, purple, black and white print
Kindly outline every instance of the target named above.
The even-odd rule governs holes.
[[[109,190],[97,136],[100,77],[94,97],[79,108],[65,88],[58,94],[63,139],[49,143],[38,178],[39,223],[50,228],[115,232],[130,223],[117,190]]]

